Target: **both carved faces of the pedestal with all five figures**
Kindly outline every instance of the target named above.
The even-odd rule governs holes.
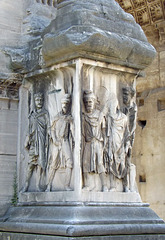
[[[137,191],[131,163],[136,71],[99,64],[84,60],[78,77],[69,62],[25,81],[22,193]]]

